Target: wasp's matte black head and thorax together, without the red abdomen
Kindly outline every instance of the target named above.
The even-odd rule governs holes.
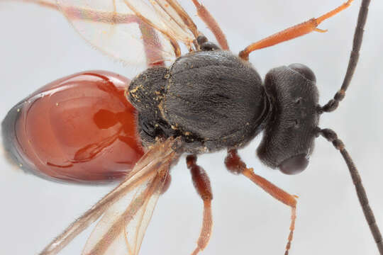
[[[264,87],[255,69],[231,52],[201,51],[169,69],[138,75],[128,99],[140,112],[140,137],[147,145],[157,136],[182,136],[189,153],[240,148],[266,128],[260,159],[293,174],[306,168],[313,149],[315,81],[308,67],[292,64],[272,69]]]

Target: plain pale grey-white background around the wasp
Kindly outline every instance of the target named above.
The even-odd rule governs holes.
[[[225,3],[225,4],[223,4]],[[194,14],[191,1],[182,1]],[[278,30],[301,23],[342,4],[342,0],[220,1],[204,4],[221,23],[233,52]],[[360,0],[312,33],[252,53],[262,77],[272,67],[301,62],[316,73],[321,104],[340,87],[350,54]],[[345,142],[383,228],[383,2],[372,1],[360,63],[345,101],[323,115],[322,128],[333,128]],[[193,16],[196,21],[198,18]],[[89,47],[60,13],[30,4],[0,3],[0,118],[40,86],[68,74],[105,69],[127,77],[139,70],[123,67]],[[206,28],[198,22],[199,28]],[[209,33],[206,33],[209,35]],[[211,37],[210,37],[211,38]],[[248,166],[299,196],[291,254],[378,254],[340,154],[323,138],[309,168],[284,176],[255,157],[259,138],[240,151]],[[283,254],[290,210],[242,176],[228,173],[225,154],[199,157],[211,178],[214,228],[204,255]],[[172,171],[172,185],[159,200],[140,254],[190,254],[201,226],[202,203],[191,184],[184,159]],[[52,237],[87,210],[112,186],[63,185],[23,174],[4,161],[0,177],[0,254],[37,254]],[[79,254],[87,234],[61,254]]]

